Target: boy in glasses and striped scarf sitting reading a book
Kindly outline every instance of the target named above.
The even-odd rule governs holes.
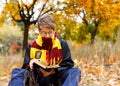
[[[37,86],[78,86],[80,70],[73,68],[74,62],[68,44],[55,32],[54,17],[45,14],[38,18],[37,23],[38,38],[28,45],[22,68],[14,69],[12,73],[14,75],[21,71],[16,76],[19,81],[13,79],[9,86],[17,86],[17,82],[19,82],[18,86],[24,86],[24,76],[30,74],[30,70],[33,71]],[[40,63],[53,67],[44,69],[39,65]]]

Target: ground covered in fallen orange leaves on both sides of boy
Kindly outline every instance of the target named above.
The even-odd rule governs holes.
[[[74,62],[75,66],[81,69],[79,86],[120,86],[120,55],[111,57],[107,61],[98,57],[80,57],[80,59],[75,59]],[[17,65],[16,61],[12,68],[19,65],[20,63]],[[5,64],[4,66],[8,67]],[[0,86],[7,86],[10,79],[10,70],[12,69],[5,69],[2,69],[4,75],[0,77]]]

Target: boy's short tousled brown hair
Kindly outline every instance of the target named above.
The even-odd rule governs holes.
[[[55,29],[55,20],[52,15],[44,14],[38,18],[38,28],[50,28]]]

